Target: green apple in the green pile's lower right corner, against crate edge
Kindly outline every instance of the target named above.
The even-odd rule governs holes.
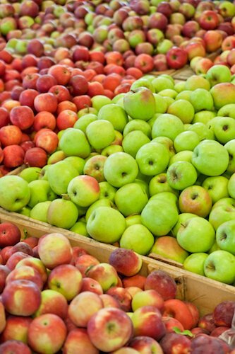
[[[207,278],[233,284],[235,280],[235,257],[227,251],[219,250],[209,254],[204,263]]]

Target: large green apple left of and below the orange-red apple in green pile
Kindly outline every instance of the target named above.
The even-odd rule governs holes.
[[[155,236],[167,235],[178,217],[177,208],[164,200],[150,200],[141,212],[142,224]]]

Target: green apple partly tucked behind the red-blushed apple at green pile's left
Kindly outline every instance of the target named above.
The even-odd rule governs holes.
[[[47,180],[54,193],[67,193],[68,183],[78,176],[78,171],[68,161],[59,161],[50,165],[47,170]]]

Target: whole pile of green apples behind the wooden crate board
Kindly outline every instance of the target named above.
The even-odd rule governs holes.
[[[0,179],[0,206],[234,284],[234,81],[215,65],[95,96],[47,166]]]

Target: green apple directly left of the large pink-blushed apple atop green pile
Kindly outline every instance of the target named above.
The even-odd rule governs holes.
[[[100,108],[98,113],[98,120],[108,120],[112,123],[114,130],[123,132],[126,123],[128,122],[128,116],[125,110],[120,106],[114,103],[109,105],[103,105]]]

